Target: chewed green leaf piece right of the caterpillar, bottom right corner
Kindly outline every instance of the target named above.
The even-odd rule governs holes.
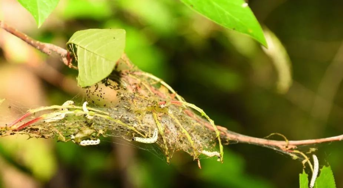
[[[336,188],[334,174],[330,166],[324,166],[320,170],[320,176],[317,178],[314,188]]]

